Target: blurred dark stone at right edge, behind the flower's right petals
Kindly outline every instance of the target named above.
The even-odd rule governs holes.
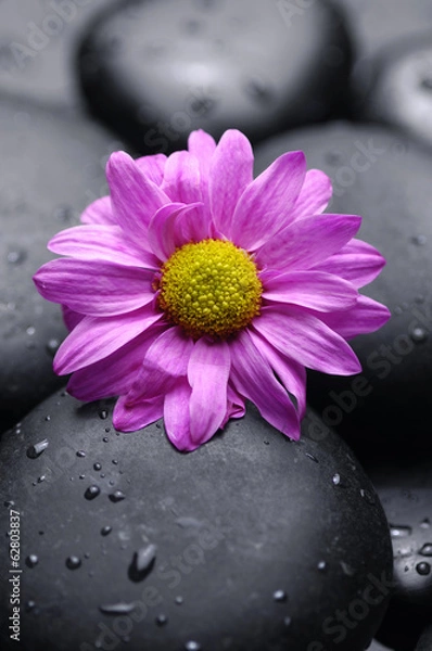
[[[424,426],[432,384],[432,161],[393,131],[341,123],[270,140],[257,148],[256,170],[297,149],[308,167],[332,178],[329,212],[363,216],[359,239],[387,264],[361,291],[392,312],[381,330],[352,340],[363,372],[309,373],[309,400],[364,463],[380,456],[409,463],[432,447]]]

